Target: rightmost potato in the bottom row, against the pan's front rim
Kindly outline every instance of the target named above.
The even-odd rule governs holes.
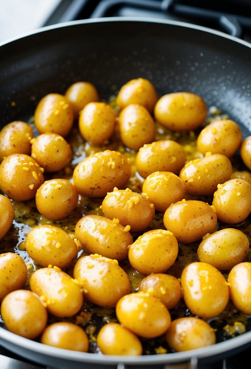
[[[204,320],[185,317],[172,321],[166,332],[166,340],[170,348],[180,352],[214,345],[216,335],[213,328]]]

